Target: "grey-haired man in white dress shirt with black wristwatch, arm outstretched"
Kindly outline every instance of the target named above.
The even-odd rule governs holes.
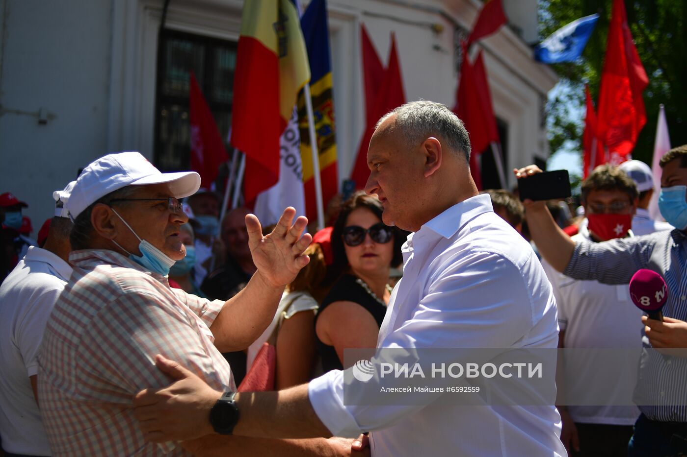
[[[379,196],[385,224],[414,232],[403,246],[403,279],[379,348],[556,348],[550,283],[529,244],[493,212],[488,195],[478,195],[469,154],[462,122],[442,104],[411,102],[378,123],[365,190]],[[213,432],[307,438],[369,431],[373,456],[565,455],[554,406],[350,406],[343,371],[280,392],[232,397],[176,362],[159,357],[157,364],[178,381],[135,399],[151,441]]]

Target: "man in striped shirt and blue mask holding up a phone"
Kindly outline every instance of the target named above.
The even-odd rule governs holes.
[[[687,348],[687,145],[668,151],[662,167],[659,209],[673,231],[608,242],[576,242],[567,237],[541,202],[525,203],[526,217],[539,252],[567,277],[625,285],[641,268],[661,274],[668,285],[664,320],[642,316],[649,348]],[[541,172],[536,165],[515,170],[526,179]],[[627,312],[633,305],[627,303]],[[586,320],[586,319],[585,319]],[[647,352],[649,353],[649,352]],[[675,359],[675,360],[671,360]],[[681,358],[647,357],[640,365],[635,392],[642,393],[642,414],[629,443],[629,456],[672,456],[687,453],[687,366]],[[666,399],[672,399],[666,401]]]

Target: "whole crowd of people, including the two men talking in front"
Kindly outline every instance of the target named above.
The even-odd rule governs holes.
[[[660,188],[642,162],[597,167],[579,207],[480,193],[470,153],[445,106],[396,108],[365,190],[312,235],[292,208],[269,227],[245,207],[219,220],[198,174],[137,152],[55,191],[36,240],[27,204],[0,195],[5,455],[687,453],[687,401],[346,404],[356,348],[635,348],[638,389],[687,400],[684,364],[639,360],[687,347],[687,145],[662,159]],[[659,191],[667,222],[649,218]],[[663,321],[632,305],[640,268],[666,279]],[[594,360],[565,363],[577,375],[559,389],[594,377]]]

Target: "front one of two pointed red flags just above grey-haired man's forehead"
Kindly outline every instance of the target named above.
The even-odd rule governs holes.
[[[379,86],[379,91],[376,93],[372,115],[367,117],[370,119],[370,124],[365,126],[363,138],[358,148],[358,156],[350,176],[350,178],[355,181],[356,189],[363,189],[370,176],[367,156],[368,146],[370,146],[370,139],[372,139],[375,124],[383,115],[404,103],[405,93],[403,91],[401,63],[398,60],[398,52],[396,51],[396,37],[392,33],[389,65],[384,72],[384,79]]]

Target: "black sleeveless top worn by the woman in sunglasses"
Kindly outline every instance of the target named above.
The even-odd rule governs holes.
[[[315,325],[317,325],[317,318],[319,318],[324,309],[335,301],[352,301],[358,303],[372,314],[372,317],[376,320],[377,327],[382,325],[384,315],[386,314],[386,307],[379,303],[379,301],[376,301],[362,285],[356,282],[356,279],[357,278],[351,274],[344,274],[339,278],[330,289],[327,296],[324,297],[322,304],[319,305],[319,311],[317,312],[317,316],[315,316]],[[354,329],[352,329],[352,331],[354,331]],[[322,359],[322,368],[325,372],[330,370],[343,370],[343,364],[341,364],[341,360],[339,360],[336,349],[320,341],[319,338],[317,338],[317,333],[315,333],[315,346]]]

